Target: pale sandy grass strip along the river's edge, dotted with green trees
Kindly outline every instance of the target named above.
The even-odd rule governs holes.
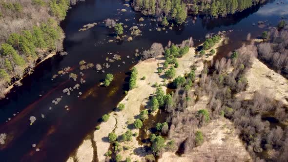
[[[209,50],[214,49],[215,53],[217,53],[217,47],[221,46],[224,40],[225,39],[222,38],[219,43],[216,43]],[[209,50],[207,50],[206,53],[209,53]],[[204,67],[203,61],[210,61],[212,58],[213,56],[210,55],[198,55],[196,49],[192,47],[189,49],[187,54],[185,54],[182,58],[177,59],[179,62],[179,67],[176,68],[175,76],[183,76],[185,73],[188,73],[190,71],[191,65],[196,65],[196,73],[200,74],[201,69]],[[151,96],[156,91],[156,87],[154,87],[153,84],[157,83],[159,85],[164,83],[164,78],[162,77],[164,72],[161,75],[157,73],[157,69],[159,67],[163,67],[164,61],[164,56],[160,56],[157,58],[141,61],[134,66],[138,70],[136,81],[137,87],[128,91],[125,98],[120,101],[120,103],[125,105],[125,109],[122,111],[111,112],[109,114],[109,120],[100,124],[100,130],[94,131],[94,142],[96,142],[97,158],[99,162],[103,162],[106,159],[104,154],[110,147],[110,143],[107,139],[107,136],[110,132],[115,132],[117,136],[121,136],[128,129],[131,129],[133,133],[137,132],[139,134],[138,129],[133,129],[133,122],[138,118],[140,107],[147,107],[149,103],[149,96]],[[145,76],[145,80],[141,80],[143,76]],[[166,86],[162,86],[162,88],[164,91],[166,91]],[[72,159],[78,160],[78,162],[88,162],[86,157],[95,157],[96,155],[93,155],[93,151],[91,149],[86,149],[83,151],[81,148],[89,147],[92,147],[91,143],[83,142],[79,149],[77,149],[76,154],[71,156],[67,162],[72,161]],[[123,159],[130,157],[132,161],[142,161],[144,160],[144,156],[147,154],[145,148],[139,144],[135,137],[133,137],[130,142],[120,142],[120,147],[128,148],[119,152]],[[89,159],[91,160],[91,158]]]

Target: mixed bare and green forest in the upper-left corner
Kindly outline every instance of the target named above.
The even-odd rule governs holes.
[[[75,0],[0,2],[1,97],[12,81],[33,72],[38,59],[62,51],[64,34],[59,22],[75,3]]]

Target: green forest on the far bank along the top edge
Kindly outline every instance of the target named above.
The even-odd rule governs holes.
[[[144,15],[175,20],[176,23],[184,23],[187,11],[192,14],[210,15],[212,17],[241,12],[252,5],[265,0],[133,0],[135,11]]]

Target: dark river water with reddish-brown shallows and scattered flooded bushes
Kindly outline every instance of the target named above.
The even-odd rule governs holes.
[[[285,3],[267,2],[225,19],[205,20],[204,16],[199,16],[193,24],[192,17],[188,17],[186,24],[175,25],[173,30],[167,28],[167,33],[158,32],[156,22],[145,17],[145,20],[140,22],[144,24],[140,27],[143,36],[133,38],[132,42],[127,42],[126,38],[121,42],[108,42],[109,39],[114,39],[113,30],[106,28],[102,23],[107,18],[117,19],[118,22],[128,25],[128,28],[124,28],[124,34],[129,36],[129,28],[139,23],[141,14],[123,6],[127,2],[122,0],[79,2],[68,11],[66,19],[61,23],[66,35],[63,45],[68,55],[54,56],[42,62],[36,67],[34,74],[22,80],[22,86],[13,88],[7,99],[0,101],[0,133],[7,134],[6,144],[0,144],[0,161],[66,161],[83,138],[98,124],[102,115],[112,111],[122,100],[124,91],[127,90],[129,69],[139,60],[135,57],[136,48],[143,51],[153,42],[166,45],[169,40],[180,43],[189,37],[193,37],[195,43],[201,43],[209,32],[233,30],[227,35],[229,43],[219,49],[218,58],[221,58],[241,46],[247,33],[251,33],[251,38],[256,38],[264,30],[268,30],[269,26],[259,28],[257,21],[267,21],[271,27],[277,25],[281,16],[287,16],[288,0],[282,1]],[[122,8],[127,9],[127,12],[118,10]],[[97,22],[98,25],[87,31],[79,31],[84,24],[93,22]],[[252,23],[256,25],[253,26]],[[120,55],[122,60],[115,62],[105,60],[107,57],[112,59],[114,54]],[[104,68],[105,73],[96,72],[95,67],[83,70],[82,78],[86,82],[81,84],[79,69],[81,60],[94,64],[108,62],[110,68]],[[51,81],[54,74],[67,66],[73,68],[71,72],[78,74],[77,81],[69,80],[69,74],[62,77],[59,75]],[[107,88],[99,85],[106,73],[112,73],[115,78]],[[79,90],[73,90],[70,96],[62,93],[64,88],[73,87],[76,83],[80,84]],[[82,95],[78,98],[79,92],[82,92]],[[52,103],[61,96],[62,101],[59,104]],[[65,105],[69,110],[64,108]],[[30,116],[37,118],[32,125],[29,121]],[[32,147],[34,143],[35,148]],[[40,151],[35,151],[36,148]]]

